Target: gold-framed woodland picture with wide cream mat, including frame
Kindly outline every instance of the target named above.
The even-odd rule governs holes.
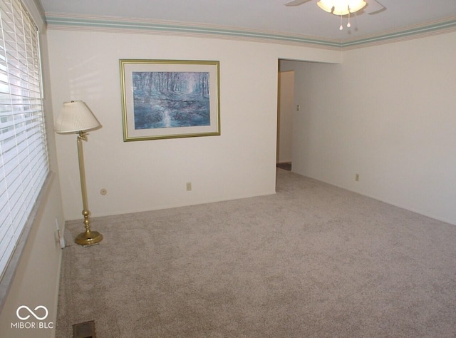
[[[219,61],[120,60],[123,140],[220,135]]]

